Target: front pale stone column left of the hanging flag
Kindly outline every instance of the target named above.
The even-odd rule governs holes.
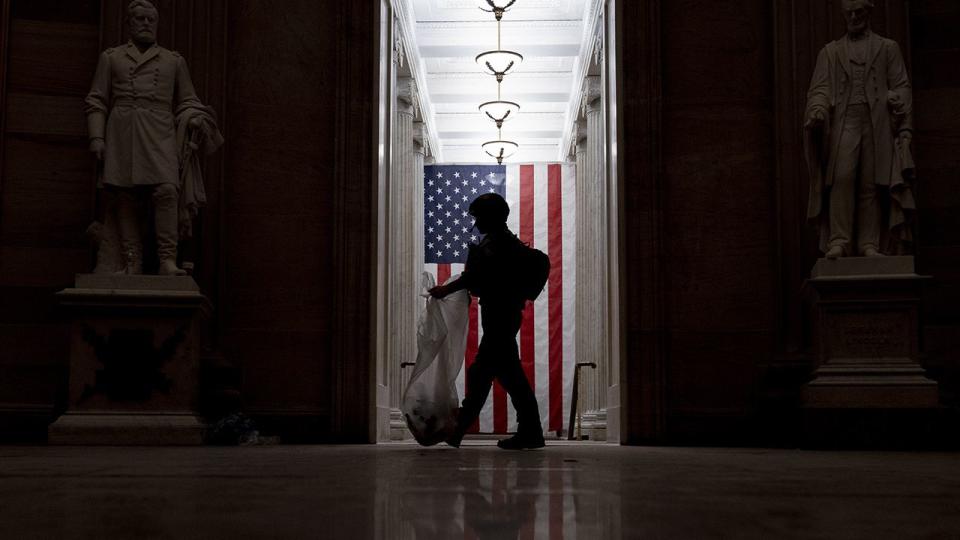
[[[414,298],[417,280],[413,275],[414,178],[413,117],[416,114],[413,79],[397,80],[396,114],[390,151],[387,223],[387,365],[390,383],[390,435],[403,438],[406,424],[400,412],[403,378],[400,364],[412,362],[416,354],[416,311]]]

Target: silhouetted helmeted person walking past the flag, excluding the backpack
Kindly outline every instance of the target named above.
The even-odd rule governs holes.
[[[481,195],[470,204],[470,215],[483,240],[472,246],[463,274],[448,285],[430,289],[435,298],[467,289],[480,298],[483,338],[476,359],[467,371],[466,396],[457,417],[457,429],[447,439],[460,446],[463,435],[480,415],[496,378],[510,394],[517,411],[517,433],[497,446],[505,449],[542,448],[543,428],[537,398],[520,366],[517,332],[526,303],[517,279],[519,253],[525,249],[507,228],[510,206],[496,193]]]

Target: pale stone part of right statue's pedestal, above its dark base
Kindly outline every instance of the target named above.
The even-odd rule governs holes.
[[[817,368],[807,407],[936,407],[919,363],[920,287],[913,257],[821,259],[814,294]]]

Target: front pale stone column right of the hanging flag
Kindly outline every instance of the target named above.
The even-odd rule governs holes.
[[[587,369],[581,372],[585,386],[590,387],[590,390],[585,392],[584,428],[591,439],[605,439],[608,386],[607,174],[600,77],[589,76],[584,81],[583,104],[586,117],[586,157],[582,182],[584,212],[578,216],[583,235],[578,238],[578,243],[582,246],[578,253],[585,260],[583,273],[577,274],[577,288],[585,289],[582,294],[586,302],[584,315],[587,319],[582,321],[586,325],[582,328],[585,350],[578,353],[578,356],[581,362],[597,364],[595,370]],[[579,333],[581,330],[578,328]]]

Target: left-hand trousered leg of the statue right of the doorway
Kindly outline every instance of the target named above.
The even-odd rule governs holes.
[[[856,175],[860,161],[861,121],[856,107],[847,110],[837,149],[833,186],[830,188],[829,258],[851,254]],[[840,252],[842,250],[842,252]]]

